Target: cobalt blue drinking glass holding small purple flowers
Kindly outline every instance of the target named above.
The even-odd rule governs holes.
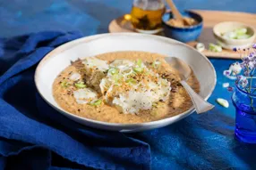
[[[232,101],[236,109],[235,137],[239,141],[256,143],[256,95],[235,86]]]

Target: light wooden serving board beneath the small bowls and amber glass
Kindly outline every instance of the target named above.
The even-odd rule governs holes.
[[[199,39],[195,42],[187,43],[188,45],[195,46],[198,42],[206,45],[208,49],[209,43],[216,43],[216,40],[212,33],[212,28],[223,21],[239,21],[245,24],[250,25],[253,28],[256,28],[256,14],[254,13],[246,13],[246,12],[220,12],[220,11],[202,11],[202,10],[192,10],[194,12],[198,12],[201,14],[204,23],[203,23],[203,31]],[[124,16],[112,20],[108,26],[108,31],[110,33],[115,32],[135,32],[134,28],[132,28],[132,23],[130,20],[125,20]],[[162,33],[158,34],[159,36],[163,36]],[[255,40],[256,43],[256,40]],[[226,58],[226,59],[240,59],[238,53],[234,53],[231,50],[223,49],[222,52],[210,52],[209,50],[204,50],[202,53],[208,57],[212,58]]]

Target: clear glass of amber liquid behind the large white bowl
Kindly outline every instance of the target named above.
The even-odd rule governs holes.
[[[164,0],[133,0],[132,26],[141,33],[157,34],[162,30],[162,15],[165,11]]]

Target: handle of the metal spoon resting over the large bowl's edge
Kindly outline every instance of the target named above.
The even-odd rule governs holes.
[[[182,80],[180,83],[183,85],[186,92],[190,95],[194,108],[198,114],[214,108],[214,105],[210,104],[207,101],[204,101],[204,99],[202,99],[198,93],[195,93],[192,87],[187,84],[187,82]]]

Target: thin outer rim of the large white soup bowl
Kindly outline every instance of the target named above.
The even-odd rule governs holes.
[[[65,43],[64,45],[60,45],[58,47],[56,47],[54,50],[52,50],[51,52],[47,53],[47,55],[38,63],[38,67],[35,71],[35,76],[34,76],[34,81],[35,81],[35,84],[36,84],[36,88],[38,90],[38,93],[40,94],[40,96],[45,100],[47,101],[47,103],[52,107],[54,108],[55,110],[61,112],[62,114],[67,114],[75,119],[81,119],[83,121],[86,121],[86,122],[90,122],[90,123],[93,123],[93,124],[98,124],[98,125],[107,125],[107,126],[118,126],[118,127],[129,127],[129,126],[147,126],[147,125],[159,125],[161,123],[164,123],[168,120],[171,120],[171,119],[174,119],[175,118],[175,122],[182,119],[183,117],[187,117],[189,115],[191,115],[193,113],[193,111],[195,110],[194,107],[192,106],[190,109],[184,111],[183,113],[181,114],[178,114],[178,115],[175,115],[174,117],[166,117],[166,118],[163,118],[163,119],[159,119],[159,120],[155,120],[155,121],[150,121],[150,122],[143,122],[143,123],[135,123],[135,124],[120,124],[120,123],[109,123],[109,122],[103,122],[103,121],[98,121],[98,120],[93,120],[93,119],[90,119],[90,118],[86,118],[86,117],[79,117],[79,116],[76,116],[74,115],[73,113],[70,113],[64,109],[62,109],[60,106],[58,107],[55,107],[50,101],[48,101],[44,95],[41,93],[40,89],[38,88],[38,72],[40,70],[40,68],[43,66],[44,62],[46,62],[49,58],[55,56],[55,53],[61,53],[61,52],[64,52],[64,50],[66,49],[70,49],[72,48],[73,46],[75,45],[78,45],[80,43],[87,43],[87,42],[90,42],[92,40],[96,40],[98,38],[102,38],[104,36],[151,36],[155,39],[158,39],[158,40],[164,40],[164,41],[167,41],[168,43],[170,43],[170,41],[172,41],[171,43],[176,43],[176,44],[179,44],[179,45],[185,45],[186,47],[190,48],[191,50],[199,53],[197,50],[193,49],[190,45],[186,45],[186,44],[183,44],[179,41],[176,41],[175,39],[171,39],[171,38],[167,38],[167,37],[164,37],[164,36],[155,36],[155,35],[146,35],[146,34],[140,34],[140,33],[104,33],[104,34],[98,34],[98,35],[93,35],[93,36],[85,36],[85,37],[81,37],[81,38],[78,38],[78,39],[75,39],[73,41],[70,41],[68,43]],[[216,70],[214,69],[213,65],[211,64],[211,62],[209,61],[209,59],[203,55],[202,53],[199,53],[201,54],[201,56],[208,62],[209,64],[209,67],[213,70],[214,72],[214,85],[212,85],[212,88],[210,89],[210,92],[209,94],[204,98],[205,100],[208,100],[209,99],[209,96],[213,93],[214,91],[214,88],[216,86],[216,83],[217,83],[217,75],[216,75]]]

